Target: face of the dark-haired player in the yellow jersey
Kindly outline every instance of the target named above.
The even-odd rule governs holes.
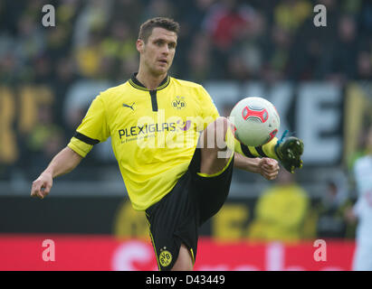
[[[155,75],[167,73],[175,57],[176,40],[176,33],[160,27],[152,30],[148,42],[138,40],[141,61],[148,71]]]

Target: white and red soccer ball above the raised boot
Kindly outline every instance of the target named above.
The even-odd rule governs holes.
[[[240,100],[231,111],[230,121],[235,126],[235,138],[248,146],[269,143],[281,125],[276,108],[264,98]]]

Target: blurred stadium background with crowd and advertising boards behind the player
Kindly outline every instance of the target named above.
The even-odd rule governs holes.
[[[313,23],[318,4],[326,27]],[[43,5],[55,27],[43,26]],[[372,120],[367,0],[0,1],[0,269],[156,268],[110,141],[47,199],[30,198],[91,100],[138,69],[138,26],[153,16],[181,24],[172,76],[203,84],[223,116],[240,98],[271,100],[281,133],[305,144],[303,169],[281,176],[287,187],[234,171],[224,208],[201,228],[196,270],[350,270],[350,170]],[[45,239],[55,261],[43,261]],[[327,261],[314,257],[316,239]]]

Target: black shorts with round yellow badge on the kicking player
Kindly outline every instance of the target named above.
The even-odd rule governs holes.
[[[224,205],[230,190],[234,156],[216,176],[200,176],[201,150],[196,148],[186,173],[172,191],[146,210],[159,270],[170,270],[181,244],[196,260],[198,228]]]

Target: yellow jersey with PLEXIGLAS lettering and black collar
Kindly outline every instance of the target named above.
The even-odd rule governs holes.
[[[133,75],[92,101],[68,146],[85,157],[110,136],[132,206],[146,210],[186,172],[200,132],[217,117],[201,85],[167,76],[149,90]]]

